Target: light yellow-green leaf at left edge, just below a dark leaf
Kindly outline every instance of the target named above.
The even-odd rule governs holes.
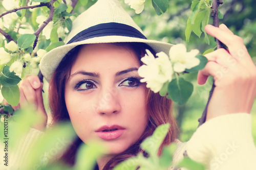
[[[19,88],[18,85],[5,87],[1,89],[2,95],[5,100],[12,106],[17,106],[19,103]]]

